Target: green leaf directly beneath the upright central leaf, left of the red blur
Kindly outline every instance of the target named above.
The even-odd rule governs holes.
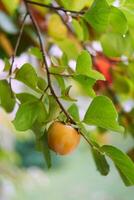
[[[92,88],[96,82],[95,79],[89,78],[84,75],[76,75],[73,77],[73,79],[78,82],[81,92],[85,92],[88,96],[91,97],[95,96],[95,92]]]

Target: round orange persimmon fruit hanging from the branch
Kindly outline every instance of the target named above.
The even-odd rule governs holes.
[[[48,145],[59,155],[74,151],[80,142],[80,134],[70,125],[54,122],[48,129]]]

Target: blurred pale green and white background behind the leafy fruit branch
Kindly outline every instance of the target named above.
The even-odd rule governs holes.
[[[16,35],[18,34],[18,24],[20,25],[24,14],[23,6],[19,9],[17,8],[19,11],[14,14],[18,2],[17,0],[13,1],[12,5],[12,1],[2,0],[3,4],[0,3],[0,79],[5,76],[5,73],[3,73],[4,62],[2,60],[12,55]],[[46,2],[49,3],[50,1]],[[92,1],[89,2],[90,4],[92,3]],[[116,1],[115,5],[118,5],[118,3],[119,1]],[[35,8],[33,10],[35,15],[40,13],[39,18],[37,17],[38,22],[40,23],[40,28],[43,27],[42,30],[46,31],[46,24],[44,24],[44,18],[41,14],[42,11]],[[19,22],[17,21],[18,16]],[[17,26],[15,24],[16,21],[18,22]],[[31,44],[36,43],[33,40],[35,35],[30,34],[31,27],[29,27],[29,21],[27,21],[23,36],[23,41],[25,42],[19,48],[14,69],[16,67],[19,68],[26,62],[33,63],[34,66],[39,64],[35,57],[23,53],[31,47]],[[92,45],[96,51],[102,50],[100,43],[93,42]],[[70,46],[66,48],[68,50]],[[66,49],[63,47],[63,50]],[[59,57],[62,55],[62,51],[58,45],[52,44],[49,48],[49,54]],[[74,66],[75,61],[73,58],[70,62],[70,67],[73,68]],[[40,74],[42,73],[39,69],[36,69],[36,71]],[[18,81],[12,81],[12,87],[15,92],[20,92],[20,90],[29,91]],[[82,117],[89,105],[89,98],[86,95],[83,96],[83,94],[83,97],[81,97],[77,90],[78,86],[74,87],[72,94],[78,98],[77,105],[80,108]],[[134,102],[128,97],[128,94],[127,98],[123,96],[121,100],[123,100],[122,105],[126,111],[130,111],[133,108]],[[35,137],[32,131],[17,132],[14,129],[11,121],[15,116],[16,110],[17,105],[11,114],[6,114],[2,108],[0,109],[0,200],[134,199],[134,188],[124,186],[109,159],[108,162],[111,169],[109,175],[106,177],[100,175],[92,158],[90,147],[83,139],[81,139],[77,150],[69,156],[58,156],[52,152],[52,167],[48,169],[43,155],[36,150]],[[92,127],[92,137],[100,144],[112,144],[124,152],[132,149],[134,145],[131,134],[103,133]]]

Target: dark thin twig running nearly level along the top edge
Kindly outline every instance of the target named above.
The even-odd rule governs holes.
[[[48,4],[44,4],[44,3],[38,3],[38,2],[34,2],[34,1],[28,1],[28,0],[26,0],[25,2],[29,3],[29,4],[33,4],[33,5],[49,8],[49,9],[52,9],[52,10],[60,10],[60,11],[63,11],[65,13],[69,12],[69,13],[77,14],[77,15],[85,14],[85,11],[68,10],[68,9],[65,9],[63,7],[60,7],[60,6],[55,7],[55,6],[52,6],[52,5],[48,5]]]

